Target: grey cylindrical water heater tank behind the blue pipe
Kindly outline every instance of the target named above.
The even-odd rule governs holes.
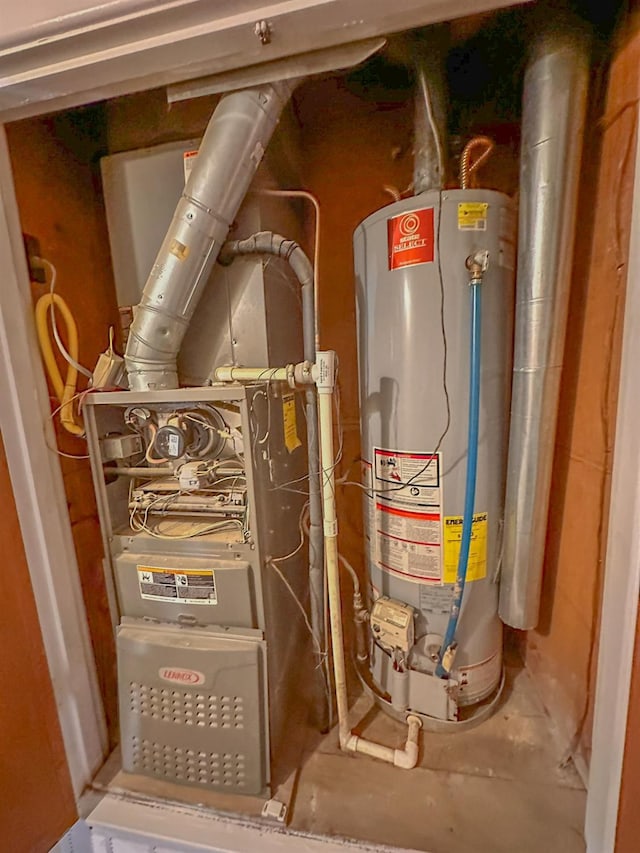
[[[371,593],[414,611],[407,654],[372,631],[371,674],[390,710],[455,720],[458,706],[496,690],[502,672],[497,577],[511,383],[513,205],[492,190],[428,191],[369,216],[355,232],[354,249]],[[434,669],[458,566],[467,461],[465,261],[478,250],[489,252],[481,285],[478,478],[452,701],[443,704],[434,699],[441,695],[433,689]]]

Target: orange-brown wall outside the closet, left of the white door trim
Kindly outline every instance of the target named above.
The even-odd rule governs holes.
[[[12,853],[47,853],[76,821],[49,668],[0,441],[0,827]]]

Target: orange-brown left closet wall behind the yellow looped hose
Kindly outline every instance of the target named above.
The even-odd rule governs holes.
[[[57,269],[56,291],[78,324],[79,360],[92,369],[117,327],[111,261],[95,157],[102,140],[97,109],[9,125],[16,196],[23,232],[38,238],[42,255]],[[32,285],[34,301],[47,290]],[[66,373],[60,359],[62,375]],[[79,388],[84,388],[81,377]],[[52,398],[52,411],[57,406]],[[57,421],[57,419],[56,419]],[[98,678],[112,741],[117,736],[115,651],[102,570],[102,541],[86,443],[56,422],[62,473],[80,578],[87,605]],[[53,452],[53,451],[52,451]]]

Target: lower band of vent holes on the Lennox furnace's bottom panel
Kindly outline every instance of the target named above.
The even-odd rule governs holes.
[[[131,746],[134,773],[201,785],[243,788],[246,784],[245,757],[240,753],[185,749],[136,736]]]

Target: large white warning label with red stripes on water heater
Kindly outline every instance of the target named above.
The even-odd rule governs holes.
[[[442,582],[442,456],[373,451],[375,562],[415,583]]]

